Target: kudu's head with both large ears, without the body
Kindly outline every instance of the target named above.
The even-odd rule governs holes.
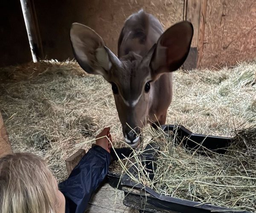
[[[131,147],[140,144],[140,129],[152,102],[157,101],[154,82],[183,64],[192,35],[191,23],[177,23],[160,36],[144,57],[130,52],[119,59],[95,31],[72,24],[70,40],[75,58],[86,72],[102,75],[111,83],[123,135]]]

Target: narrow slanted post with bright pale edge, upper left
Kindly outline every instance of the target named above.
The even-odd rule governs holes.
[[[44,58],[42,42],[35,13],[35,5],[33,0],[20,0],[20,4],[29,38],[29,46],[31,49],[32,59],[35,63],[39,58]]]

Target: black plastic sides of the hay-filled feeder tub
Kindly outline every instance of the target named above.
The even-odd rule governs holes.
[[[187,149],[196,149],[198,152],[204,150],[202,147],[205,147],[207,150],[222,154],[226,152],[226,148],[233,141],[233,138],[195,134],[183,126],[163,125],[162,129],[167,136],[170,135],[170,133],[176,134],[176,136],[180,138],[180,141],[182,141],[183,146]],[[201,146],[198,144],[201,144]],[[157,152],[154,150],[158,149],[159,147],[157,147],[156,144],[148,144],[147,147],[145,147],[143,154],[140,156],[141,161],[146,164],[148,171],[150,171],[152,167],[156,166],[154,165],[154,161],[157,158]],[[116,152],[120,158],[125,158],[123,155],[128,157],[132,153],[131,149],[129,148],[116,149]],[[113,160],[117,160],[114,153],[112,153],[112,156]],[[137,173],[134,168],[135,167],[132,166],[129,168],[129,171],[136,176]],[[124,191],[125,199],[123,200],[123,203],[128,207],[133,207],[140,210],[140,212],[249,213],[248,211],[232,210],[224,207],[217,207],[211,204],[202,204],[195,201],[164,196],[157,193],[150,187],[135,183],[127,174],[121,177],[121,181],[120,176],[111,172],[108,173],[107,177],[112,187],[122,189]],[[149,173],[149,177],[153,178],[153,174]],[[120,184],[118,185],[119,182]]]

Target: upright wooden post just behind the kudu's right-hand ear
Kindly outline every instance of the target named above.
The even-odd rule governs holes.
[[[191,48],[186,61],[183,64],[183,69],[191,70],[198,68],[198,46],[201,42],[202,27],[204,23],[201,23],[204,19],[202,15],[205,15],[207,0],[184,0],[184,14],[183,19],[192,23],[194,27],[194,35],[191,43]]]

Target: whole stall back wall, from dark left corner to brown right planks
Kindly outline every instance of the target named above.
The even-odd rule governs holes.
[[[0,5],[4,8],[0,66],[31,60],[20,2],[3,1]],[[255,0],[35,1],[46,58],[73,58],[69,40],[73,22],[95,29],[116,52],[125,19],[141,8],[156,15],[165,29],[182,19],[192,22],[195,32],[185,68],[218,68],[255,58]]]

